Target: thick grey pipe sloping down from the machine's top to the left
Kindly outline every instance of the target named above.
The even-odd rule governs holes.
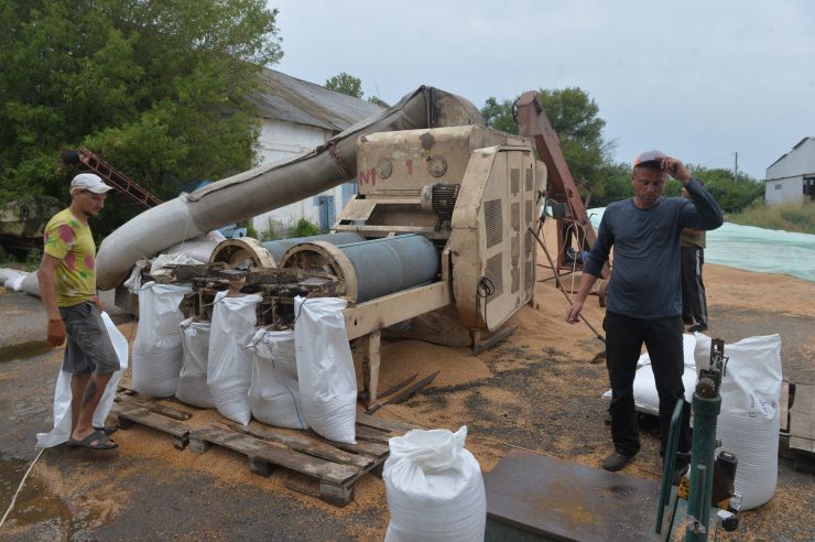
[[[311,152],[262,165],[145,210],[109,235],[97,254],[97,286],[121,284],[133,264],[227,224],[319,194],[357,176],[357,140],[369,133],[463,124],[483,126],[464,98],[422,86],[395,106]]]

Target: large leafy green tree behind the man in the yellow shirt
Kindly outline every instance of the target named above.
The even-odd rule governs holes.
[[[264,0],[0,0],[0,200],[67,200],[58,152],[79,145],[161,198],[250,167],[246,98],[282,55],[276,15]]]

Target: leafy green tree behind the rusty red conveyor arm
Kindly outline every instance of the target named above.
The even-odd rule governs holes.
[[[540,101],[557,133],[563,155],[575,182],[589,187],[593,197],[595,193],[601,194],[604,178],[600,171],[608,163],[613,144],[604,137],[606,121],[599,116],[599,106],[578,87],[541,89]],[[493,97],[488,98],[481,108],[481,116],[487,126],[518,133],[512,105],[513,100],[499,101]]]

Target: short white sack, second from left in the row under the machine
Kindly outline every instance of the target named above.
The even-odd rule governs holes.
[[[202,409],[215,408],[213,394],[207,386],[207,360],[209,359],[209,322],[187,318],[181,324],[181,346],[184,362],[178,375],[175,397],[187,404]]]

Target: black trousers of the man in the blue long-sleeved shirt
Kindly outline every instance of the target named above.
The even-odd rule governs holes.
[[[640,427],[634,412],[634,372],[640,349],[645,344],[654,371],[656,392],[660,395],[660,435],[664,454],[671,431],[671,415],[676,401],[684,403],[678,451],[691,449],[691,408],[685,402],[682,356],[682,318],[632,318],[617,313],[606,313],[602,322],[606,329],[606,365],[611,383],[611,438],[615,448],[623,455],[633,456],[640,451]]]

